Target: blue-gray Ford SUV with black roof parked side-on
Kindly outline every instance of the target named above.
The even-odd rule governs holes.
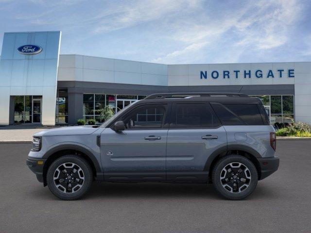
[[[36,133],[27,165],[63,200],[92,181],[212,183],[226,199],[250,195],[275,172],[276,134],[258,98],[154,94],[100,126]]]

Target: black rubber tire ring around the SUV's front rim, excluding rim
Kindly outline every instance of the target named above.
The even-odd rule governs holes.
[[[61,192],[54,184],[53,175],[58,166],[64,163],[75,163],[80,166],[84,172],[85,180],[82,187],[75,193],[63,193]],[[93,172],[89,164],[84,158],[81,158],[76,155],[64,155],[56,159],[48,169],[47,172],[47,184],[51,192],[58,198],[62,200],[77,200],[80,199],[87,190],[90,188],[90,185],[93,180]]]

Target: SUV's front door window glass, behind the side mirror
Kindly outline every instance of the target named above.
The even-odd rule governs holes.
[[[161,128],[164,114],[163,105],[145,105],[125,116],[123,121],[126,129]]]

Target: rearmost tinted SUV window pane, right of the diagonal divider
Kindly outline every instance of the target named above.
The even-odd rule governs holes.
[[[224,104],[247,125],[263,125],[257,104]]]

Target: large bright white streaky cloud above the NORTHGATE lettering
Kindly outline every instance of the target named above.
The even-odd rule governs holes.
[[[175,63],[182,60],[187,62],[187,60],[193,60],[194,56],[200,56],[202,49],[206,50],[206,54],[208,50],[215,50],[215,48],[223,51],[224,48],[221,47],[225,46],[222,44],[223,40],[229,34],[233,42],[230,43],[231,48],[227,50],[239,52],[227,52],[232,54],[228,60],[238,62],[243,50],[262,51],[284,45],[288,41],[289,28],[299,19],[301,10],[298,0],[260,0],[255,5],[249,2],[241,9],[226,9],[222,12],[225,17],[206,20],[200,25],[195,22],[186,23],[183,29],[171,35],[172,39],[185,42],[184,45],[178,50],[157,57],[154,61]],[[187,53],[190,55],[189,59],[180,58]],[[215,54],[211,60],[221,60],[217,56],[224,56],[224,54],[226,53]],[[228,60],[222,60],[222,62],[228,62]]]

